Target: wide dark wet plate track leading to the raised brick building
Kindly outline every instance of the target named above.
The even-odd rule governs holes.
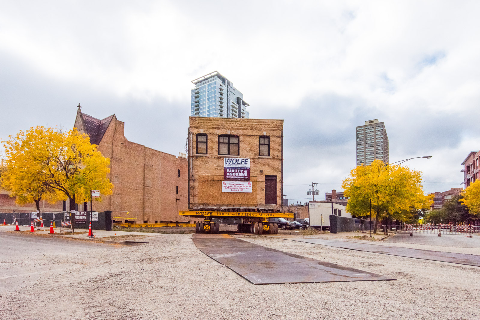
[[[225,234],[193,234],[197,248],[254,285],[396,280],[379,274],[266,248]]]

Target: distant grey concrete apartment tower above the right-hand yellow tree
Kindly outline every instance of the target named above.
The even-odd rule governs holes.
[[[369,165],[375,159],[388,164],[387,132],[378,119],[365,121],[365,125],[357,127],[357,166]]]

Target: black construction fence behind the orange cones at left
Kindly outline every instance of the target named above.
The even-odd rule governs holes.
[[[112,229],[112,212],[111,211],[94,211],[92,214],[92,229],[111,230]],[[19,226],[30,226],[32,221],[42,217],[45,228],[50,227],[50,222],[55,222],[55,227],[60,228],[62,221],[70,221],[72,219],[71,212],[3,212],[0,213],[0,224],[5,220],[6,224],[13,224],[18,221]],[[88,229],[90,225],[90,211],[77,211],[75,213],[75,229]],[[35,225],[35,223],[34,223]]]

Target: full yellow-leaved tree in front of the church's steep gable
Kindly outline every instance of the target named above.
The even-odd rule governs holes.
[[[110,160],[101,155],[87,135],[80,134],[76,128],[62,131],[36,126],[25,135],[17,136],[20,139],[4,144],[10,146],[15,143],[13,140],[22,144],[25,136],[29,137],[29,142],[23,144],[19,152],[25,154],[29,166],[38,168],[39,180],[48,190],[53,190],[60,200],[70,200],[70,210],[75,210],[75,203],[90,199],[90,190],[99,190],[102,195],[112,194],[113,184],[107,177]],[[71,221],[75,229],[73,217]]]

